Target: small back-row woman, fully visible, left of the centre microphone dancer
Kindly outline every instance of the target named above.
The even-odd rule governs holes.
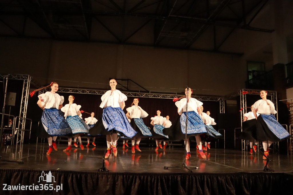
[[[152,138],[156,139],[156,149],[155,151],[159,150],[159,147],[163,149],[162,147],[162,140],[169,138],[168,136],[163,134],[163,129],[165,128],[163,126],[164,118],[161,116],[161,111],[157,110],[157,115],[154,117],[151,117],[151,125],[154,126],[152,130]]]

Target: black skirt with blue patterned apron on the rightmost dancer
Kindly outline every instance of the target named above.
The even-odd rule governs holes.
[[[256,120],[256,127],[255,140],[278,142],[289,138],[289,133],[277,122],[273,114],[260,114]]]

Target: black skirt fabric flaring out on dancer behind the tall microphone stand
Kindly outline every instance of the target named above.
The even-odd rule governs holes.
[[[169,136],[169,140],[185,139],[185,134],[183,134],[181,131],[180,116],[175,120],[175,122],[173,122],[173,124],[169,128],[163,129],[163,134]],[[190,138],[196,135],[200,135],[200,134],[187,134],[187,138]]]

